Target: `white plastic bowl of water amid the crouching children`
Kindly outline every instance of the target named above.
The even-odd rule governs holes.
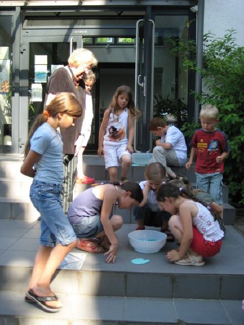
[[[167,236],[156,230],[135,230],[128,238],[137,252],[157,253],[165,245]]]

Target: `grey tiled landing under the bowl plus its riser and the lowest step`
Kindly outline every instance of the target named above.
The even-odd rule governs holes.
[[[128,243],[134,224],[117,232],[118,258],[106,264],[103,254],[85,254],[80,271],[59,270],[52,288],[64,308],[47,314],[25,303],[40,222],[0,219],[0,324],[2,325],[244,325],[244,238],[227,226],[221,253],[204,267],[181,267],[159,253],[141,254]],[[133,265],[132,258],[150,259]]]

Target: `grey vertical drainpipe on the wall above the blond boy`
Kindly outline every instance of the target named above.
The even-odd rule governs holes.
[[[197,9],[197,73],[196,73],[196,93],[202,93],[202,70],[203,63],[203,21],[204,21],[204,0],[198,0]],[[199,121],[199,100],[195,100],[195,121]]]

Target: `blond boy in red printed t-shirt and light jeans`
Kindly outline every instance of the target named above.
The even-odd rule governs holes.
[[[222,200],[222,180],[224,159],[229,154],[229,146],[224,132],[216,128],[219,111],[214,105],[205,105],[200,111],[202,128],[198,129],[191,141],[191,155],[186,168],[196,161],[196,187],[205,190],[219,205]]]

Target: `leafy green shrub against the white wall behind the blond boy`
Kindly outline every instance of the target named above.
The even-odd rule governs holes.
[[[212,34],[204,37],[203,46],[203,91],[198,95],[201,104],[213,104],[219,109],[217,127],[228,137],[231,148],[225,160],[224,181],[229,186],[232,203],[244,204],[244,47],[235,43],[234,30],[227,30],[223,38]],[[182,66],[196,71],[194,44],[180,45],[184,51]],[[177,53],[176,53],[177,54]],[[190,58],[189,58],[190,57]],[[192,136],[196,122],[182,126],[186,136]]]

